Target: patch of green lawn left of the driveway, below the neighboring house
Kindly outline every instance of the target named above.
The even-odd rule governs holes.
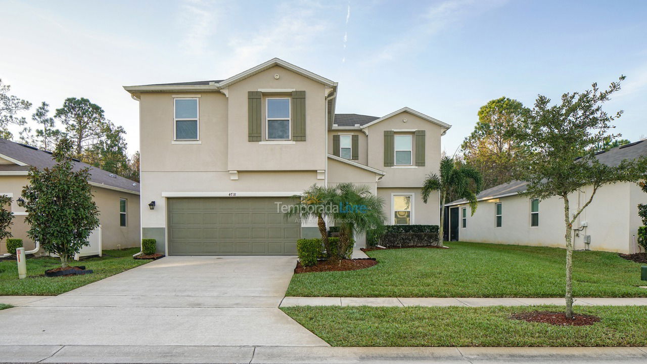
[[[59,258],[41,257],[27,259],[27,278],[18,279],[15,260],[0,262],[0,295],[60,295],[74,290],[97,280],[110,277],[127,269],[131,269],[149,260],[134,260],[133,254],[139,251],[138,247],[130,249],[104,250],[104,256],[81,258],[80,262],[72,261],[72,266],[85,266],[93,269],[89,275],[75,275],[72,277],[45,277],[45,271],[60,267]]]

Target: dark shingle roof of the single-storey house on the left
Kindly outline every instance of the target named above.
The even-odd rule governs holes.
[[[30,166],[41,169],[56,164],[56,161],[52,159],[51,152],[5,139],[0,139],[0,157],[14,163],[16,161],[19,162],[16,164],[0,164],[0,176],[27,175]],[[74,170],[80,170],[85,167],[90,168],[90,184],[93,186],[139,194],[139,183],[135,181],[117,176],[116,174],[77,161],[76,159],[72,163],[74,164]]]

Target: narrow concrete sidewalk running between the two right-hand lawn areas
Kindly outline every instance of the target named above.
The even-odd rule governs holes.
[[[280,307],[294,306],[536,306],[540,304],[554,304],[564,306],[563,298],[395,298],[395,297],[285,297]],[[647,306],[647,297],[636,298],[604,298],[582,297],[576,298],[579,306]]]

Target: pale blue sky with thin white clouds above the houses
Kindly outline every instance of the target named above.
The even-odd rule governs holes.
[[[122,86],[225,79],[274,57],[338,82],[338,113],[408,106],[452,124],[450,155],[488,100],[532,106],[621,74],[605,106],[624,110],[615,132],[647,135],[647,1],[0,0],[0,78],[34,104],[23,115],[89,98],[130,153],[138,103]]]

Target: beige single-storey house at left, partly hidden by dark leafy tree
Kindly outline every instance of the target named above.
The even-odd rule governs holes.
[[[31,166],[42,169],[56,164],[52,153],[32,146],[0,139],[0,195],[14,199],[11,211],[14,223],[11,233],[23,239],[26,250],[34,249],[34,242],[27,237],[30,226],[25,223],[27,212],[16,203],[23,187],[28,184],[27,173]],[[139,183],[116,176],[80,161],[74,161],[74,169],[89,167],[90,185],[101,223],[101,240],[104,249],[135,247],[140,244]],[[0,253],[6,253],[6,245],[0,244]]]

